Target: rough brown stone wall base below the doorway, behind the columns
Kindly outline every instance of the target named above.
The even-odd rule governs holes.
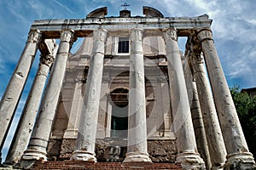
[[[127,140],[123,139],[97,139],[96,158],[99,162],[124,161]],[[50,139],[48,145],[48,159],[55,161],[69,160],[75,150],[76,139]],[[119,146],[119,150],[116,148]],[[113,152],[119,153],[113,157]],[[173,139],[148,140],[148,154],[153,162],[175,162],[177,146]]]

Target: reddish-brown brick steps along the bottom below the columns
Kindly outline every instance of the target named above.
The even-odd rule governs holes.
[[[88,161],[36,161],[32,169],[132,169],[132,170],[153,170],[153,169],[182,169],[179,164],[175,163],[149,163],[149,162],[88,162]]]

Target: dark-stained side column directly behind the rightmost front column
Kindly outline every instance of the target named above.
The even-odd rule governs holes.
[[[190,63],[195,76],[196,87],[198,89],[201,112],[203,113],[204,126],[206,127],[207,142],[211,155],[212,168],[223,168],[227,155],[223,135],[218,122],[218,115],[212,98],[211,88],[207,82],[207,73],[201,58],[201,49],[196,47],[196,42],[192,42],[190,48]],[[218,150],[216,150],[218,148]]]

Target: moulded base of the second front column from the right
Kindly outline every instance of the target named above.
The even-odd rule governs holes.
[[[184,170],[206,169],[205,162],[201,156],[195,152],[183,152],[178,154],[176,162],[181,163]]]

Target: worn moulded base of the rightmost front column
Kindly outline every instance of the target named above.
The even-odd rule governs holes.
[[[256,169],[253,154],[250,152],[230,154],[224,164],[224,169]]]

